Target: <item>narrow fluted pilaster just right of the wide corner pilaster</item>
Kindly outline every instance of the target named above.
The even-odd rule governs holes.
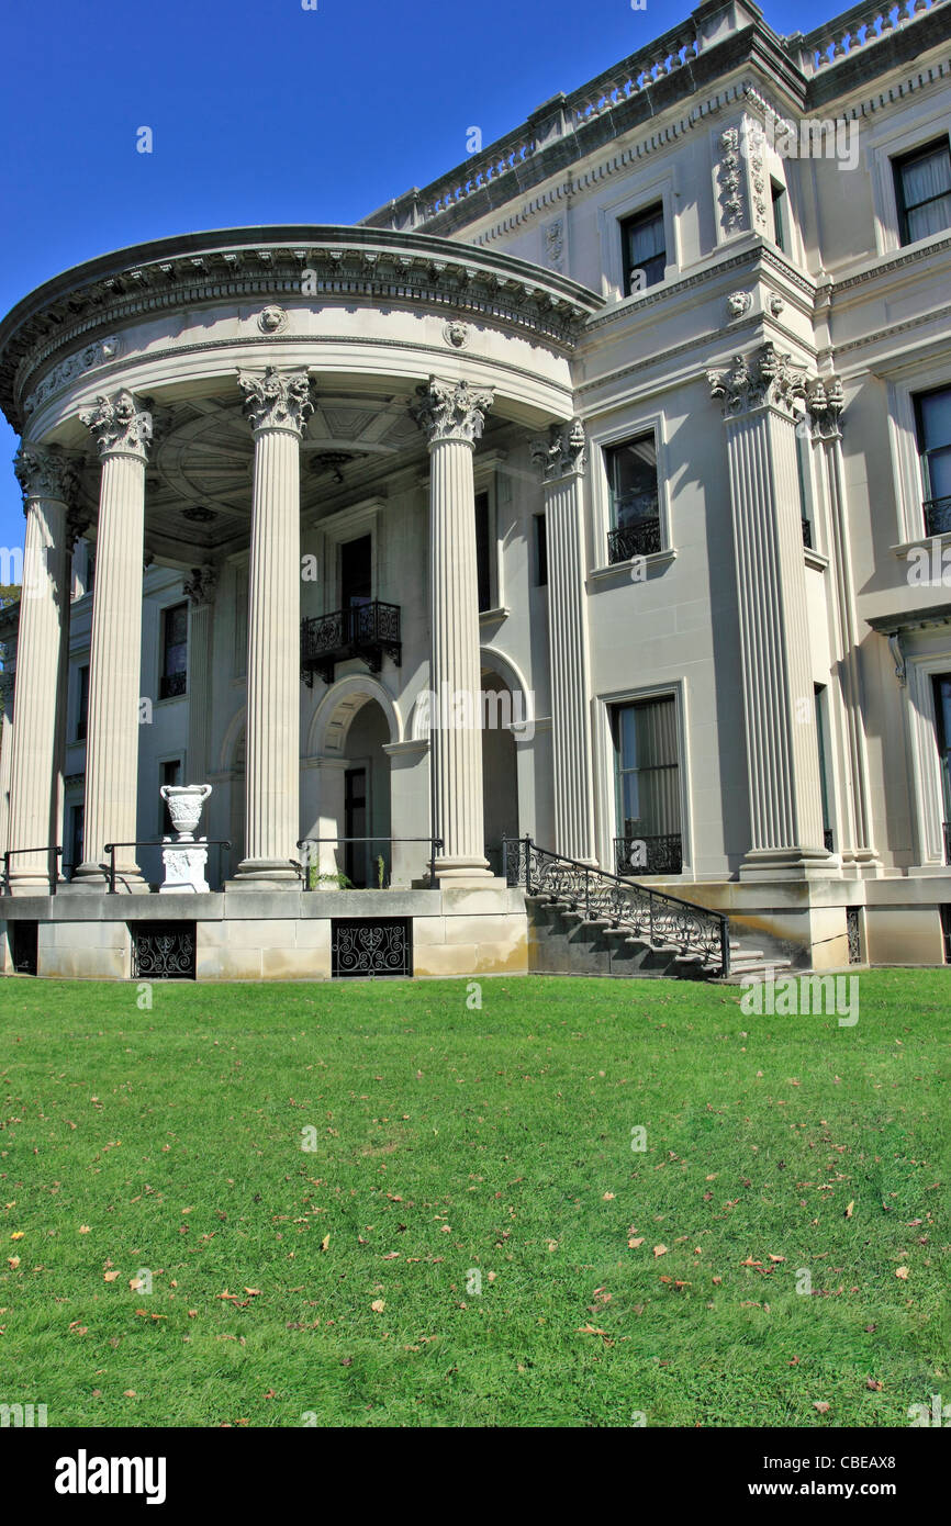
[[[850,871],[873,874],[878,855],[872,841],[872,795],[869,752],[866,748],[862,674],[858,658],[855,581],[849,546],[846,472],[843,462],[843,386],[838,377],[818,377],[809,383],[812,441],[818,452],[826,502],[829,505],[830,563],[835,588],[835,664],[841,714],[846,731],[846,789],[841,798],[843,842],[840,856]]]

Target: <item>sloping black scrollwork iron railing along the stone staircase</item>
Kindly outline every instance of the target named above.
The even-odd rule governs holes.
[[[502,855],[505,879],[527,896],[563,900],[589,920],[611,922],[652,948],[678,949],[707,974],[730,974],[730,922],[722,911],[550,853],[531,838],[504,838]]]

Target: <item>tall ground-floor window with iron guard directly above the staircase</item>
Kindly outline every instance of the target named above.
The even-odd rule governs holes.
[[[673,696],[615,705],[618,873],[679,874],[681,780]]]

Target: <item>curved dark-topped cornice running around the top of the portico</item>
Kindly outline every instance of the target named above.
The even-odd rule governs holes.
[[[79,346],[93,365],[107,359],[95,336],[108,334],[111,351],[121,343],[111,331],[136,320],[278,298],[311,307],[421,304],[563,351],[603,301],[553,270],[430,233],[330,226],[188,233],[104,255],[26,296],[0,324],[0,407],[21,430],[23,400],[47,366]]]

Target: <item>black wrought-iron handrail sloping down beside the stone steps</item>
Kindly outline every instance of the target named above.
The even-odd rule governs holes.
[[[510,847],[516,848],[514,879],[511,868]],[[679,943],[682,949],[699,952],[708,961],[714,957],[719,945],[721,975],[725,980],[730,974],[730,919],[722,911],[711,911],[708,906],[698,906],[681,896],[670,896],[667,891],[652,890],[637,881],[621,879],[609,870],[582,864],[580,859],[566,858],[563,853],[553,853],[539,847],[530,836],[502,838],[502,862],[505,879],[510,885],[521,884],[525,876],[525,894],[533,894],[531,855],[536,855],[537,884],[536,894],[545,893],[545,882],[554,879],[557,891],[566,891],[565,899],[575,908],[583,903],[585,916],[592,913],[592,885],[595,888],[594,911],[604,913],[615,925],[627,923],[638,937],[647,935],[652,945],[661,938]],[[545,861],[556,867],[556,874],[545,873]],[[568,884],[566,884],[568,881]],[[608,893],[604,896],[604,891]],[[646,926],[630,913],[637,899],[646,900]],[[676,926],[670,926],[670,913]]]

